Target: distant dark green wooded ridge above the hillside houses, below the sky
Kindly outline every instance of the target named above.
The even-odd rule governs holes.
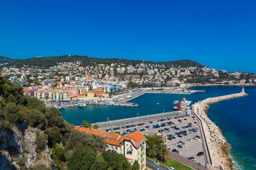
[[[121,58],[96,58],[96,57],[87,57],[87,56],[56,56],[56,57],[38,57],[38,58],[29,58],[29,59],[17,59],[9,63],[9,66],[15,65],[16,67],[22,67],[23,65],[36,65],[38,67],[49,68],[54,65],[57,65],[58,62],[76,62],[81,61],[81,66],[95,66],[97,64],[106,64],[110,65],[111,63],[125,64],[125,65],[137,65],[140,63],[145,64],[159,64],[166,65],[168,68],[172,65],[181,66],[181,67],[202,67],[198,62],[194,62],[188,59],[175,60],[175,61],[166,61],[166,62],[154,62],[154,61],[143,61],[143,60],[131,60],[131,59],[121,59]]]

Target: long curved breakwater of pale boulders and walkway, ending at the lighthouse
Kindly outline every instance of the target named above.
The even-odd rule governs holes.
[[[239,93],[207,98],[201,102],[192,105],[193,113],[201,121],[201,126],[204,131],[204,142],[206,144],[208,151],[208,155],[207,153],[206,155],[209,157],[210,163],[212,164],[213,167],[218,167],[219,165],[221,165],[224,169],[232,170],[234,169],[234,164],[232,159],[230,158],[230,144],[223,136],[221,129],[207,116],[209,105],[223,100],[233,99],[247,95],[248,94],[245,93]]]

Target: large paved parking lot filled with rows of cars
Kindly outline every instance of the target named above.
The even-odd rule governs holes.
[[[126,133],[129,134],[134,131],[134,128],[136,128],[137,131],[140,131],[140,133],[143,133],[144,135],[146,134],[148,136],[154,136],[155,133],[159,133],[159,130],[164,130],[165,128],[169,128],[171,131],[166,132],[166,130],[164,130],[164,131],[162,131],[162,134],[163,134],[163,136],[166,136],[166,144],[168,147],[170,147],[170,151],[172,151],[173,149],[176,149],[181,153],[181,156],[184,156],[186,158],[194,157],[196,160],[200,161],[201,164],[204,164],[205,163],[204,155],[197,156],[197,153],[203,151],[202,150],[202,139],[199,139],[199,138],[192,139],[192,137],[195,137],[195,136],[201,137],[200,131],[199,130],[194,131],[194,132],[189,131],[192,128],[193,129],[200,128],[200,126],[198,125],[198,120],[194,120],[193,115],[185,116],[185,117],[181,116],[181,117],[175,117],[175,118],[151,121],[151,123],[144,122],[144,123],[140,123],[139,126],[134,125],[134,127],[128,127],[128,128],[125,127],[125,128],[121,128],[119,130],[113,130],[113,131],[114,132],[118,131],[120,133],[124,133],[124,130],[126,130]],[[164,123],[166,123],[165,126],[164,126]],[[189,124],[191,124],[190,125],[191,127],[187,126]],[[148,129],[148,126],[152,127],[153,125],[154,125],[154,128]],[[176,127],[174,127],[174,126],[176,126]],[[144,129],[144,130],[140,130],[140,129]],[[174,135],[174,133],[180,133],[181,131],[184,131],[184,130],[188,133],[191,133],[191,135],[189,135],[188,133],[186,133],[187,136],[185,136],[185,133],[181,134],[180,137]],[[168,139],[170,137],[169,135],[174,136],[175,139],[169,140]],[[191,142],[188,141],[187,139],[191,139]],[[181,144],[181,143],[178,144],[177,143],[178,141],[182,141],[183,144]],[[179,148],[179,147],[173,145],[172,143],[180,145],[182,148]],[[184,146],[184,145],[186,145],[186,146]]]

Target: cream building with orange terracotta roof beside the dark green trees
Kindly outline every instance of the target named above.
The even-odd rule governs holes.
[[[76,126],[75,129],[85,133],[102,136],[107,143],[105,150],[113,150],[117,153],[124,154],[126,159],[133,164],[138,160],[141,170],[146,166],[146,138],[138,131],[128,136],[118,135],[117,133],[108,133],[105,131],[93,130]]]

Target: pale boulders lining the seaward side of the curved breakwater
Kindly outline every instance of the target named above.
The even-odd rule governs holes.
[[[225,169],[233,170],[233,162],[230,158],[230,144],[227,143],[225,137],[223,136],[221,129],[212,122],[207,116],[207,111],[209,110],[209,105],[217,103],[227,99],[233,99],[237,97],[247,96],[245,93],[231,94],[227,96],[219,96],[214,98],[207,98],[201,102],[195,103],[193,105],[193,112],[201,119],[202,126],[205,131],[205,138],[207,143],[215,143],[215,147],[219,158],[223,160],[223,165]],[[210,153],[210,155],[213,155]]]

